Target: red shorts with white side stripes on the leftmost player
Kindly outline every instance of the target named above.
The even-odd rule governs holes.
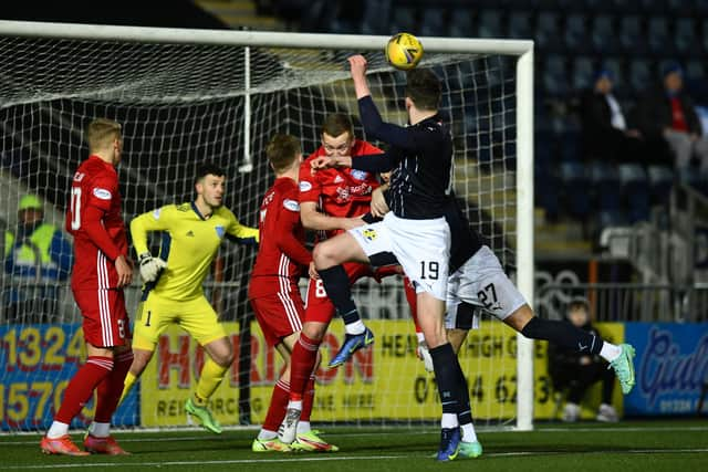
[[[133,336],[122,290],[74,291],[84,317],[86,343],[96,347],[125,346]]]

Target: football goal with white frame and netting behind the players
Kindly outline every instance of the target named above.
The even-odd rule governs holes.
[[[0,22],[2,430],[45,429],[85,359],[81,314],[62,269],[70,256],[61,253],[51,227],[32,239],[39,223],[31,225],[28,213],[41,211],[43,222],[66,240],[64,249],[71,248],[63,219],[73,171],[87,156],[83,130],[88,122],[107,117],[123,124],[118,175],[126,223],[163,204],[190,201],[197,166],[214,161],[227,172],[226,206],[241,222],[256,225],[273,180],[263,150],[274,134],[300,137],[309,154],[320,144],[325,116],[343,112],[353,116],[356,135],[366,138],[345,67],[352,52],[364,51],[369,61],[374,101],[384,118],[405,124],[405,74],[385,63],[386,40]],[[455,138],[457,197],[531,301],[530,43],[421,42],[423,66],[433,67],[444,83],[441,112]],[[225,426],[263,420],[282,366],[267,348],[246,297],[254,255],[251,248],[226,242],[207,282],[207,295],[238,354],[211,399]],[[320,369],[313,421],[437,421],[435,381],[415,356],[402,280],[360,282],[355,296],[376,343],[337,370]],[[137,282],[126,300],[132,315],[139,301]],[[325,361],[342,338],[342,322],[335,319],[322,347]],[[530,428],[533,390],[542,381],[531,377],[530,346],[497,321],[486,318],[470,333],[460,360],[478,424]],[[204,360],[192,339],[169,329],[114,422],[187,424],[184,402]],[[85,424],[92,409],[93,401],[73,427]]]

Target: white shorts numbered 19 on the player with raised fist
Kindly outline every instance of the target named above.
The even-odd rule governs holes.
[[[372,265],[393,253],[416,292],[447,298],[450,259],[450,228],[445,218],[407,220],[392,212],[383,221],[348,231],[368,256]]]

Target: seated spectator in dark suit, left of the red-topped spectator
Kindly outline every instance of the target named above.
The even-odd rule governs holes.
[[[612,73],[603,69],[594,78],[593,88],[585,91],[580,102],[585,156],[613,164],[642,161],[642,134],[627,125],[620,102],[612,94]]]

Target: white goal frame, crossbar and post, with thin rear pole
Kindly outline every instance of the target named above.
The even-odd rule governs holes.
[[[142,43],[235,45],[246,48],[246,116],[250,112],[249,48],[285,46],[300,49],[339,48],[353,51],[381,51],[387,36],[355,34],[308,34],[262,31],[189,30],[98,24],[38,23],[0,21],[6,36],[73,40],[134,41]],[[503,54],[517,57],[517,285],[533,306],[533,41],[421,38],[427,52]],[[241,170],[250,162],[249,119],[246,119],[246,156]],[[517,335],[517,429],[533,429],[533,342]]]

